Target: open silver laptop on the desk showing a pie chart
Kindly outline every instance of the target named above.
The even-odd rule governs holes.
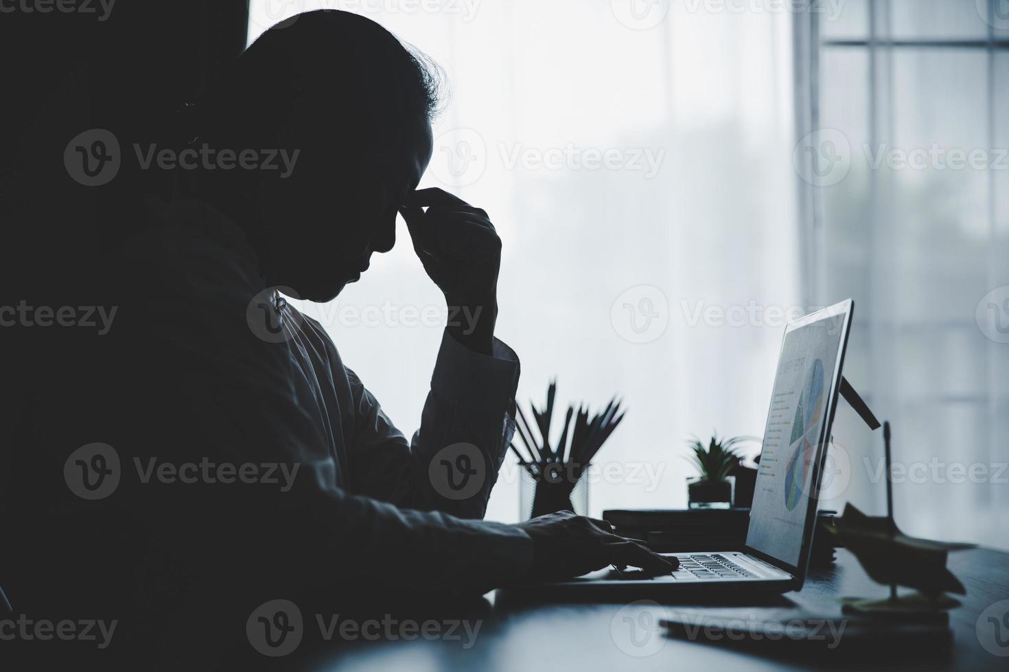
[[[664,553],[679,567],[651,576],[600,569],[537,591],[668,592],[798,590],[805,580],[816,526],[820,478],[837,405],[852,325],[853,300],[789,322],[764,429],[746,545],[734,551]],[[522,586],[517,586],[521,589]]]

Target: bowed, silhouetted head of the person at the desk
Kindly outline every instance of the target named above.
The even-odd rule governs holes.
[[[206,171],[201,191],[246,231],[268,284],[327,301],[393,248],[431,159],[438,85],[425,56],[341,11],[302,14],[242,54],[204,103],[202,142],[297,159]]]

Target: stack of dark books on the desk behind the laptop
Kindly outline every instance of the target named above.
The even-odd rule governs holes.
[[[820,511],[817,529],[833,525],[834,512]],[[615,533],[639,539],[658,553],[740,550],[746,545],[750,509],[641,509],[602,512]],[[834,561],[833,538],[813,534],[811,566]]]

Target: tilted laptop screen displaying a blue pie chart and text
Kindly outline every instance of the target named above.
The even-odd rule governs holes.
[[[816,502],[814,466],[827,438],[847,318],[848,310],[828,309],[822,318],[790,326],[778,359],[747,546],[793,567]]]

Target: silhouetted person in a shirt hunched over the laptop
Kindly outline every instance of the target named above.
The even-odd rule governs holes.
[[[519,361],[494,338],[500,240],[487,214],[416,190],[438,102],[425,63],[367,19],[313,12],[266,32],[206,101],[195,146],[297,160],[205,166],[186,197],[143,198],[136,231],[102,262],[115,323],[50,387],[32,432],[42,447],[20,465],[32,476],[15,608],[97,606],[123,638],[185,647],[244,632],[236,619],[277,597],[306,612],[437,603],[609,563],[669,569],[601,521],[479,520],[514,430]],[[398,214],[455,317],[413,441],[273,290],[332,300],[393,248]],[[52,582],[67,571],[87,579]]]

